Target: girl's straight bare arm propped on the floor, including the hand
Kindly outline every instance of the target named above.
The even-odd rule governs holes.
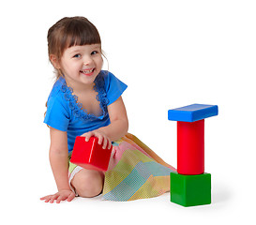
[[[50,146],[50,163],[53,170],[53,176],[58,188],[58,192],[54,195],[48,195],[41,200],[45,202],[60,203],[68,199],[71,201],[75,194],[68,185],[68,137],[67,132],[63,132],[54,128],[50,128],[51,146]]]

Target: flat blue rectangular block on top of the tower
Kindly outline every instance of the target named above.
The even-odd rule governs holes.
[[[168,111],[168,119],[173,121],[195,122],[218,115],[218,105],[192,104]]]

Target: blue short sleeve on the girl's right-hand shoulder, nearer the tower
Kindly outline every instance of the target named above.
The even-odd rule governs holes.
[[[108,105],[116,101],[128,87],[126,83],[121,82],[111,72],[108,72],[105,79],[105,86],[107,98],[109,99]]]

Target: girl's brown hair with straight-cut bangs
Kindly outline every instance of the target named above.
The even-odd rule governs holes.
[[[60,60],[64,51],[75,45],[100,44],[98,30],[84,17],[65,17],[55,23],[48,31],[48,55]],[[57,79],[61,71],[57,71]]]

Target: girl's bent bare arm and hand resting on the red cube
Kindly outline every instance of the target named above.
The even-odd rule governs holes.
[[[110,148],[111,142],[117,141],[127,134],[128,115],[122,97],[119,97],[108,106],[108,112],[111,124],[107,127],[98,128],[97,130],[83,134],[83,136],[86,137],[86,141],[88,141],[91,136],[97,136],[98,143],[103,142],[103,148],[107,145],[109,145]]]

